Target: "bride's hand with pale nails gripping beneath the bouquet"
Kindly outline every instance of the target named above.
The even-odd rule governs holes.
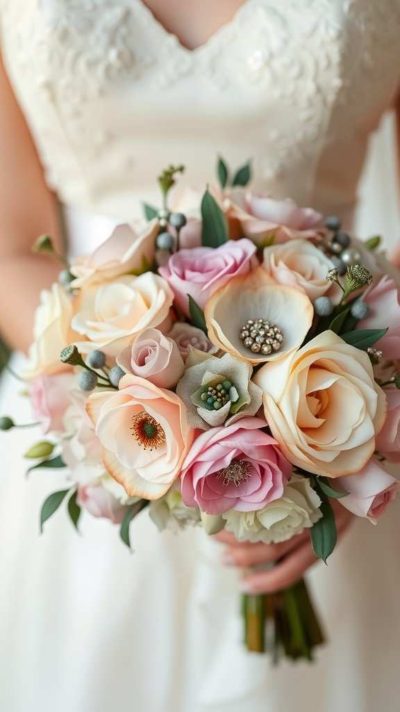
[[[339,540],[354,519],[354,515],[335,501],[332,502],[332,508],[335,511]],[[305,571],[317,561],[308,529],[281,544],[240,543],[232,533],[226,531],[217,534],[216,539],[227,545],[223,553],[223,563],[244,570],[241,590],[246,593],[280,591],[300,581]],[[274,564],[274,566],[269,570],[248,571],[251,567],[263,564]]]

